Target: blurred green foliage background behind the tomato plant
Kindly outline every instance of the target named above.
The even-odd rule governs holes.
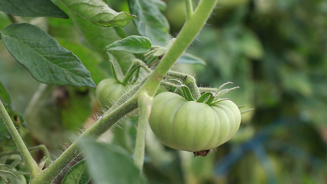
[[[106,2],[115,10],[129,11],[126,1]],[[164,14],[171,35],[176,36],[185,19],[184,1],[165,2]],[[103,52],[106,45],[99,40],[117,33],[71,18],[25,21],[34,21],[72,50],[98,84],[111,76]],[[0,14],[0,29],[8,24],[9,18]],[[91,30],[88,36],[81,36],[83,28]],[[103,29],[108,32],[102,34]],[[133,24],[123,30],[138,34]],[[193,158],[192,153],[164,147],[149,129],[145,160],[149,183],[327,183],[326,30],[327,2],[323,0],[220,0],[188,50],[206,65],[177,63],[174,69],[196,75],[200,86],[218,87],[231,81],[240,89],[227,97],[244,105],[243,111],[255,109],[242,114],[241,127],[232,140],[206,157]],[[126,68],[130,57],[122,59]],[[24,140],[29,146],[45,144],[54,157],[72,132],[92,124],[94,114],[99,113],[93,89],[42,87],[14,61],[3,43],[0,82],[0,97]],[[45,92],[33,113],[22,118],[40,90]],[[124,120],[102,140],[132,155],[136,122]],[[0,123],[0,152],[15,149]],[[40,159],[42,153],[34,156]]]

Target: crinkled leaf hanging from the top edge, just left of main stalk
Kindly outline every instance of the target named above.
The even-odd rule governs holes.
[[[158,8],[159,1],[128,0],[133,20],[137,30],[143,36],[150,38],[153,44],[164,46],[169,39],[169,23]],[[159,6],[162,8],[162,6]]]

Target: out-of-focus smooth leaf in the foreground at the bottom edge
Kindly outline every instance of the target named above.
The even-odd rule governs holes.
[[[94,183],[145,183],[131,156],[121,147],[87,139],[79,143]]]

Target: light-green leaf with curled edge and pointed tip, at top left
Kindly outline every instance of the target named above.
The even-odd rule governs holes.
[[[116,12],[102,0],[61,0],[61,2],[78,16],[103,27],[124,27],[135,15]]]

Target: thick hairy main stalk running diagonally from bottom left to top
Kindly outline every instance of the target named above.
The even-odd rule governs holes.
[[[144,85],[137,91],[137,93],[123,103],[121,106],[110,110],[104,117],[98,120],[93,126],[87,129],[80,137],[92,136],[99,137],[102,133],[111,128],[116,122],[123,118],[128,112],[131,112],[137,107],[137,98],[148,93],[150,97],[155,95],[157,88],[160,85],[162,78],[169,71],[171,66],[175,63],[178,57],[188,48],[196,35],[204,26],[206,20],[214,9],[218,0],[202,0],[195,9],[192,16],[185,22],[180,31],[176,41],[172,44],[169,51],[160,61],[154,72]],[[55,162],[47,169],[43,170],[37,178],[30,183],[51,183],[55,177],[80,154],[76,142],[73,143],[67,150],[61,154]]]

